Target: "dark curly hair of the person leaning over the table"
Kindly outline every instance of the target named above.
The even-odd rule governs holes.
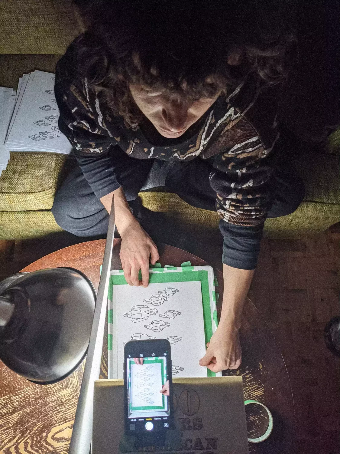
[[[294,39],[291,11],[288,0],[87,0],[77,66],[113,113],[134,125],[141,112],[129,84],[195,100],[226,94],[250,73],[281,83]],[[241,62],[232,65],[235,50]]]

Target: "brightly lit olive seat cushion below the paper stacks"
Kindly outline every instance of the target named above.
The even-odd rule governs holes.
[[[10,153],[0,177],[0,212],[50,210],[65,159],[58,153]]]

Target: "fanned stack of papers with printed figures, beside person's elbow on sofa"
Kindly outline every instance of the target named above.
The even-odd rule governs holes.
[[[54,74],[37,70],[19,79],[16,96],[12,96],[14,112],[2,142],[7,151],[71,153],[71,144],[58,128],[54,79]]]

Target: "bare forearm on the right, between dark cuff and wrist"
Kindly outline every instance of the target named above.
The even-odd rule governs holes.
[[[241,326],[244,301],[252,282],[254,270],[241,270],[223,263],[223,303],[219,324]]]

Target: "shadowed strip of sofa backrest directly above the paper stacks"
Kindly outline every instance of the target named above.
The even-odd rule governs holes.
[[[61,55],[16,54],[0,55],[0,86],[18,87],[19,77],[34,69],[55,72],[55,65]]]

